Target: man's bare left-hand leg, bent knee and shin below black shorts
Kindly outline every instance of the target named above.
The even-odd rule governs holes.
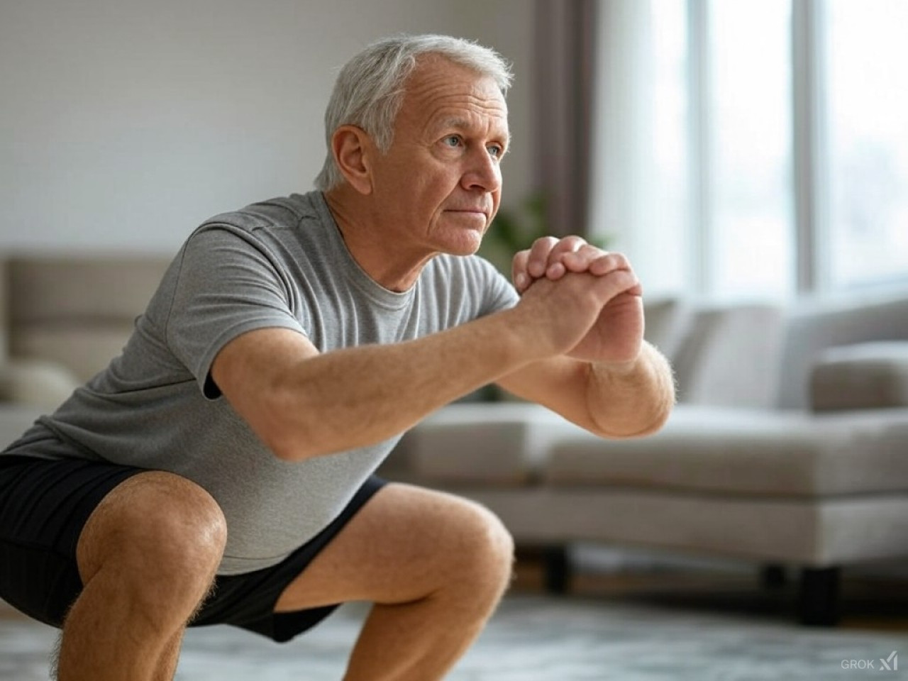
[[[147,472],[95,508],[76,556],[84,590],[66,617],[59,681],[169,681],[208,592],[226,528],[202,488]]]

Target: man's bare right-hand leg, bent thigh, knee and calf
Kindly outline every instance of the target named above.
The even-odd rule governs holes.
[[[373,602],[347,681],[431,681],[479,635],[512,563],[512,540],[485,508],[389,484],[291,582],[275,609]]]

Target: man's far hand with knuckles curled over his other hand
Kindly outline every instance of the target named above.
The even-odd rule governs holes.
[[[637,359],[644,331],[642,288],[624,255],[602,251],[577,236],[546,237],[518,252],[512,271],[525,299],[555,295],[566,296],[560,304],[568,307],[598,305],[564,354],[613,364]]]

